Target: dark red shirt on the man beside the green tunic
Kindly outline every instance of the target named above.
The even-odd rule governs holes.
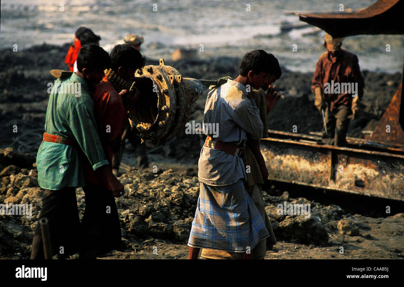
[[[116,91],[107,77],[95,86],[91,93],[94,101],[94,117],[98,126],[98,135],[101,140],[105,158],[112,169],[112,156],[115,148],[119,148],[122,133],[126,124],[126,112],[122,104],[122,97]],[[87,158],[84,159],[84,175],[86,183],[106,186],[100,172],[94,171]],[[109,186],[107,186],[108,189]]]

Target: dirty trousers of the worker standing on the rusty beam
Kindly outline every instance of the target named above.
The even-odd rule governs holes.
[[[334,146],[345,146],[347,144],[346,135],[352,114],[351,108],[346,105],[336,106],[333,112],[330,112],[329,106],[326,108],[325,118],[327,133],[323,131],[322,142]]]

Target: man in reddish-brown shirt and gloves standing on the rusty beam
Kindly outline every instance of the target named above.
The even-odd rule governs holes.
[[[312,80],[311,91],[315,93],[314,104],[322,112],[326,125],[322,134],[322,143],[345,146],[349,121],[357,116],[360,107],[360,99],[363,96],[364,81],[359,68],[358,57],[341,49],[343,38],[332,38],[330,34],[324,37],[324,52],[316,65],[316,71]],[[331,87],[324,93],[325,84]],[[333,86],[343,87],[342,84],[350,84],[351,90],[338,89]],[[353,87],[357,87],[353,91]],[[338,93],[339,92],[339,93]],[[356,94],[357,96],[353,95]]]

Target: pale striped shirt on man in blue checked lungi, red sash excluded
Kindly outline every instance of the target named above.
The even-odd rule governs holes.
[[[211,125],[217,130],[213,133]],[[260,139],[263,124],[254,99],[247,98],[246,87],[234,80],[227,80],[218,89],[208,93],[203,116],[204,133],[214,140],[233,143],[245,148],[247,136]],[[209,127],[207,130],[205,127]],[[213,186],[234,184],[247,179],[244,163],[239,156],[221,150],[202,147],[198,162],[199,181]]]

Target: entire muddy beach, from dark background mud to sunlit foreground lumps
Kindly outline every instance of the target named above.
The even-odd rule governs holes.
[[[49,71],[67,69],[63,62],[69,44],[40,45],[17,54],[3,50],[0,55],[0,203],[32,204],[32,217],[0,215],[0,258],[29,258],[33,231],[41,209],[43,190],[36,179],[35,155],[42,137],[48,99]],[[220,57],[207,60],[170,62],[183,76],[198,79],[235,77],[240,59]],[[148,65],[158,61],[148,60]],[[282,65],[282,63],[281,63]],[[313,68],[314,69],[314,68]],[[310,92],[313,73],[282,69],[276,81],[280,99],[268,116],[270,129],[299,133],[321,131],[321,117]],[[401,74],[362,71],[365,79],[364,103],[360,117],[350,123],[349,136],[363,137],[363,130],[373,130],[387,108],[401,81]],[[190,120],[202,122],[206,91],[194,104]],[[13,132],[17,126],[17,133]],[[127,144],[122,162],[129,168],[119,177],[126,193],[116,200],[124,247],[103,259],[183,259],[199,192],[198,157],[201,135],[186,135],[185,129],[164,147],[150,143],[150,167],[139,170],[136,151]],[[403,206],[355,197],[356,205],[328,200],[322,191],[296,190],[268,183],[264,198],[266,210],[278,244],[267,252],[266,259],[380,259],[404,258]],[[316,194],[316,196],[314,196]],[[84,193],[76,190],[80,218],[84,212]],[[333,195],[335,196],[335,195]],[[311,205],[311,217],[279,215],[277,205]],[[338,202],[337,202],[338,201]],[[363,205],[363,206],[362,206]],[[154,248],[154,247],[157,247]],[[343,247],[343,253],[341,253]],[[157,250],[156,252],[153,252]],[[77,256],[73,256],[76,258]]]

